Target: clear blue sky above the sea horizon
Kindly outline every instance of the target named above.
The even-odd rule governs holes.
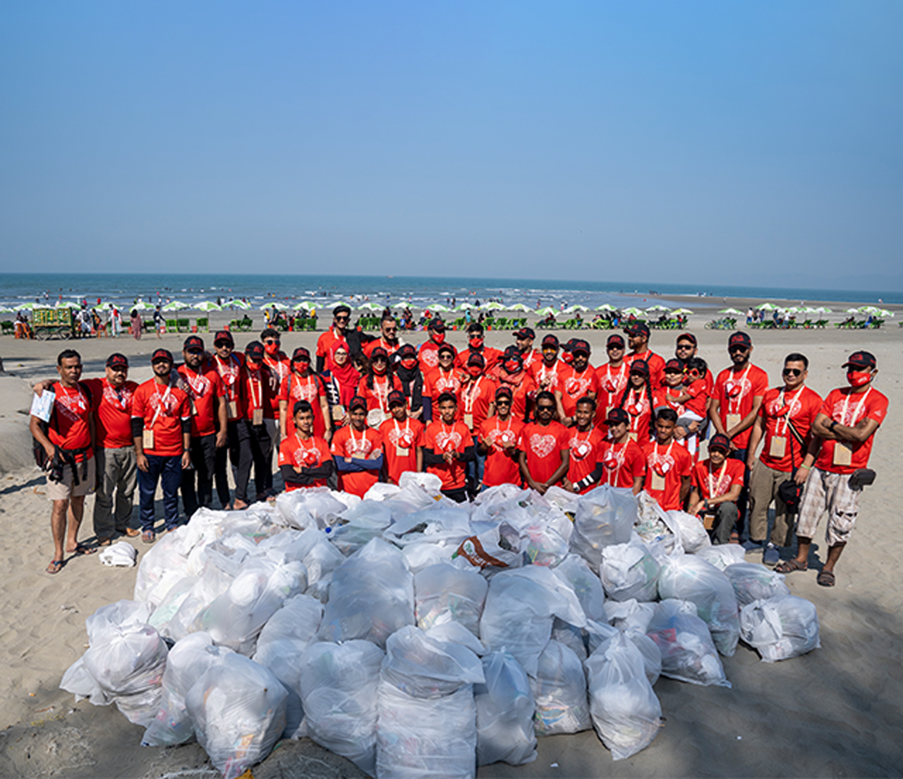
[[[898,0],[8,2],[0,270],[900,289],[901,77]]]

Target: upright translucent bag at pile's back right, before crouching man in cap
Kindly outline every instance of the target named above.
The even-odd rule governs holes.
[[[602,549],[626,544],[637,521],[637,497],[628,489],[601,487],[581,495],[574,515],[571,551],[598,572]]]

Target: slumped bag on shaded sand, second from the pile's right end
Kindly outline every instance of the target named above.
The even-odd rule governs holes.
[[[647,635],[662,655],[662,676],[707,686],[730,687],[709,626],[690,601],[669,598],[656,605]]]

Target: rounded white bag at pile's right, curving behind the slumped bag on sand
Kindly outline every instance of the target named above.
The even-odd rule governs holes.
[[[658,593],[663,599],[692,601],[718,651],[725,657],[733,655],[740,639],[740,609],[723,572],[696,555],[675,555],[662,567]]]

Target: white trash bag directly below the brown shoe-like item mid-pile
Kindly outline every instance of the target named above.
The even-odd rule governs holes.
[[[475,570],[461,570],[451,563],[423,568],[414,574],[417,626],[429,630],[452,619],[479,634],[479,615],[488,589],[486,579]]]

